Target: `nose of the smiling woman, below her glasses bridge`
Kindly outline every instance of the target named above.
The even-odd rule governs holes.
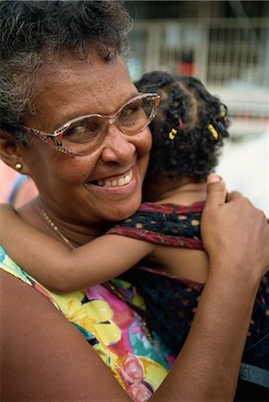
[[[131,138],[132,136],[122,133],[114,124],[109,124],[102,150],[103,162],[129,162],[136,152],[136,147]]]

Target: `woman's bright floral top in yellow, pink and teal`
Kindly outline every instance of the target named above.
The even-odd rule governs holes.
[[[129,303],[102,285],[55,294],[23,271],[0,247],[0,268],[38,290],[87,339],[130,398],[147,401],[164,381],[174,357],[157,337],[148,337],[140,314],[143,300],[128,282],[113,280]],[[37,323],[38,324],[38,323]]]

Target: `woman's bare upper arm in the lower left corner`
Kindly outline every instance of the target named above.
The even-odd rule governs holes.
[[[77,400],[82,390],[95,400],[98,381],[113,387],[97,354],[46,297],[3,269],[0,281],[4,400],[38,400],[40,389],[46,400]]]

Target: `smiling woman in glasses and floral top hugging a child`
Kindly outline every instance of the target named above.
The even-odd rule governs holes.
[[[1,158],[37,185],[39,196],[20,208],[21,218],[76,247],[141,202],[152,115],[130,126],[141,98],[122,58],[128,17],[120,2],[2,2],[0,10]],[[80,138],[85,116],[97,130],[93,138]],[[264,214],[238,194],[224,204],[224,183],[213,180],[202,222],[210,275],[164,383],[172,356],[146,339],[142,320],[113,295],[113,284],[61,298],[2,250],[3,400],[142,401],[158,387],[152,400],[233,398],[269,264],[269,233]],[[238,287],[242,275],[246,286]]]

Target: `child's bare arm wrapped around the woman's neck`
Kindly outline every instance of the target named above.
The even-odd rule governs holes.
[[[23,222],[10,205],[0,207],[0,243],[13,260],[55,292],[83,289],[112,279],[150,254],[146,241],[106,235],[70,250]]]

